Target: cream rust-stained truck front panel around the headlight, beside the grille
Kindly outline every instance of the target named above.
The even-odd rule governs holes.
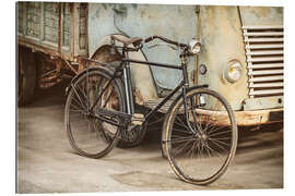
[[[200,8],[200,17],[203,47],[199,64],[205,64],[208,72],[198,74],[198,83],[209,84],[228,100],[234,110],[240,110],[243,101],[248,98],[248,76],[238,9],[204,5]],[[228,83],[224,77],[232,60],[238,60],[243,66],[241,77],[236,83]]]

